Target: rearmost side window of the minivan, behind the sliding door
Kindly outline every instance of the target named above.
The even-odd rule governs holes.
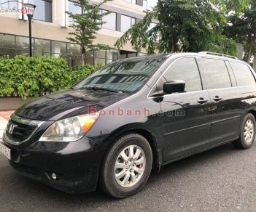
[[[238,86],[255,85],[255,78],[252,76],[252,72],[247,65],[238,62],[230,62],[230,65],[232,66]]]

